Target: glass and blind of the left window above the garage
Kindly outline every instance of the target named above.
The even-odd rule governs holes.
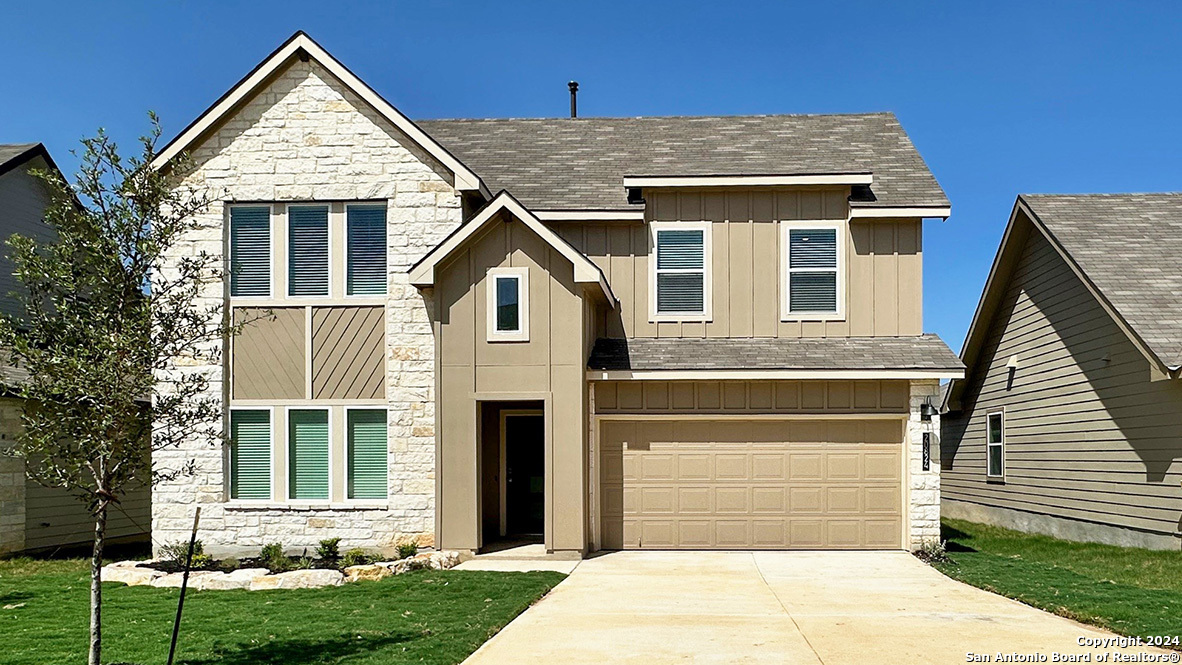
[[[701,230],[657,232],[657,312],[706,307],[706,243]]]

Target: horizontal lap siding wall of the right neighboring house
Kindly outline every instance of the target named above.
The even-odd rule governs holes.
[[[1031,515],[1071,520],[1077,527],[1058,523],[1064,535],[1177,548],[1182,383],[1151,380],[1149,361],[1041,233],[1018,230],[1025,245],[963,409],[943,418],[944,513],[1022,528],[1054,526]],[[996,482],[986,478],[985,428],[986,413],[1002,408]],[[1113,537],[1086,524],[1131,532]]]

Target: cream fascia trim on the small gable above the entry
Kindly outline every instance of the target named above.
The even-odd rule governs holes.
[[[513,198],[513,196],[511,196],[507,191],[498,194],[496,197],[475,217],[456,229],[454,234],[448,236],[440,245],[435,246],[435,249],[431,249],[427,256],[423,256],[418,263],[413,266],[410,270],[408,270],[410,283],[418,287],[434,286],[435,266],[447,259],[452,252],[463,245],[465,241],[483,228],[485,224],[489,223],[501,210],[505,210],[520,220],[521,223],[530,227],[530,229],[541,236],[546,243],[565,256],[574,266],[576,282],[591,282],[599,285],[604,298],[606,298],[608,302],[615,307],[617,302],[616,295],[611,292],[611,287],[608,286],[608,281],[604,278],[603,272],[600,272],[599,268],[586,257],[586,255],[571,247],[569,242],[559,237],[559,235],[546,227],[546,224],[541,223],[541,220],[527,210],[525,206],[521,206],[521,203],[517,198]]]

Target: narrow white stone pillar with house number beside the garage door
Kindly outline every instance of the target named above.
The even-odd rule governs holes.
[[[907,420],[910,548],[940,541],[940,415],[920,419],[924,403],[940,405],[940,382],[913,380],[911,409]],[[923,470],[923,433],[931,435],[930,465]]]

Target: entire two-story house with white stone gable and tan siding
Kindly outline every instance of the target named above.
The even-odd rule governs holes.
[[[158,454],[196,472],[157,540],[195,506],[209,550],[939,536],[949,204],[892,115],[413,123],[297,33],[155,165],[181,152],[206,296],[269,315],[203,369],[232,443]]]

